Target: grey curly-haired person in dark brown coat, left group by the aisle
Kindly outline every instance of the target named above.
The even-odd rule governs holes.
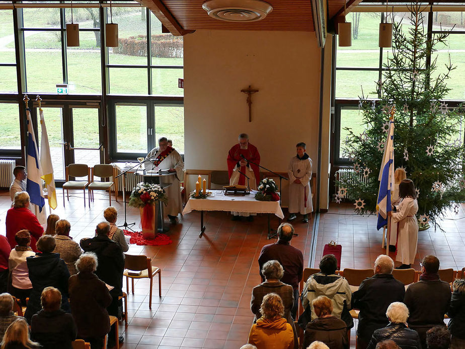
[[[107,307],[112,297],[105,283],[94,271],[97,269],[97,255],[83,253],[76,261],[77,274],[69,278],[69,300],[71,314],[77,326],[77,338],[101,348],[105,335],[110,331]]]

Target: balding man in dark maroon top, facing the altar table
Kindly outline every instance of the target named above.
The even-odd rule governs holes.
[[[284,268],[284,276],[281,282],[292,286],[294,291],[294,306],[291,310],[292,318],[295,320],[297,314],[297,302],[299,298],[299,283],[303,275],[303,254],[302,252],[290,245],[294,228],[289,223],[283,223],[278,227],[278,241],[274,244],[263,246],[258,265],[260,267],[260,276],[262,282],[265,277],[262,274],[263,264],[269,260],[277,260]]]

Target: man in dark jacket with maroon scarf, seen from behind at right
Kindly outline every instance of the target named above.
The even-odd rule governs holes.
[[[434,326],[445,326],[444,314],[450,305],[450,286],[440,280],[438,270],[439,259],[425,256],[421,262],[420,281],[410,285],[405,293],[410,328],[420,335],[423,349],[426,349],[426,331]]]

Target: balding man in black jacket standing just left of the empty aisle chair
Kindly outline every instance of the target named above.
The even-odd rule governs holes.
[[[123,294],[123,252],[121,247],[108,237],[110,233],[108,222],[99,223],[95,232],[97,234],[95,238],[81,240],[81,247],[85,252],[94,252],[97,255],[98,266],[95,273],[100,280],[113,287],[110,291],[113,300],[107,308],[108,314],[118,317],[118,307],[121,304],[118,297]],[[112,338],[115,337],[113,331],[112,328],[108,334],[108,347],[116,345],[112,342],[114,341]],[[119,339],[120,342],[123,341],[122,336]]]

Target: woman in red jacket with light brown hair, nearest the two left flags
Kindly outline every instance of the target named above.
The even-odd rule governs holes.
[[[29,194],[20,191],[15,194],[13,207],[7,212],[7,239],[11,248],[15,248],[15,235],[20,230],[27,229],[31,233],[31,248],[38,252],[36,248],[37,240],[42,236],[44,228],[40,225],[36,216],[29,210]]]

